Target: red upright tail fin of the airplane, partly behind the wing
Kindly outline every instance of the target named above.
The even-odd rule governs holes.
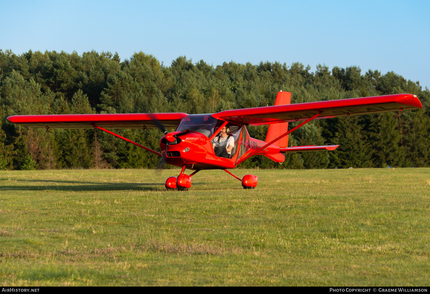
[[[275,105],[286,105],[291,102],[291,92],[282,92],[279,91],[278,95],[276,95]],[[270,142],[275,138],[278,138],[280,135],[288,132],[288,122],[281,123],[273,123],[269,125],[269,129],[267,130],[266,142]],[[288,147],[288,136],[281,138],[280,140],[273,143],[278,145],[280,148]],[[276,153],[276,154],[264,154],[268,158],[272,159],[275,162],[284,162],[285,161],[285,153]]]

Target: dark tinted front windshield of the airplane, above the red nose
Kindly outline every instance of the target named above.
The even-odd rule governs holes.
[[[190,130],[209,138],[223,122],[210,114],[190,114],[182,119],[176,131],[184,132],[185,130]]]

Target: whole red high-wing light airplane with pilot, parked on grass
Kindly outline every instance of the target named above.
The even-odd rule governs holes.
[[[290,92],[278,92],[274,106],[224,110],[218,113],[127,113],[15,115],[10,122],[46,129],[96,128],[145,150],[162,156],[171,165],[181,167],[178,177],[166,180],[168,190],[188,190],[191,177],[203,169],[222,169],[242,182],[244,189],[254,189],[257,177],[238,178],[227,169],[235,168],[254,155],[264,155],[275,162],[285,161],[285,153],[335,150],[339,145],[288,147],[288,135],[313,119],[325,119],[367,113],[381,113],[422,108],[416,95],[396,94],[365,98],[290,104]],[[288,131],[289,122],[301,123]],[[246,126],[268,124],[266,140],[249,137]],[[161,129],[161,153],[144,147],[107,129]],[[176,128],[167,132],[166,128]],[[190,175],[185,169],[194,170]]]

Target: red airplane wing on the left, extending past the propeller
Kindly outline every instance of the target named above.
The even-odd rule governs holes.
[[[154,119],[165,128],[176,128],[187,113],[52,114],[14,115],[7,119],[22,126],[49,129],[158,129]]]

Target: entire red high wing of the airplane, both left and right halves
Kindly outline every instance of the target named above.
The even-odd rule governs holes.
[[[417,108],[422,108],[422,105],[416,95],[395,94],[224,110],[212,116],[239,125],[264,125],[303,121],[319,112],[322,114],[317,119]],[[166,128],[176,128],[185,116],[187,113],[54,114],[15,115],[7,119],[36,128],[91,129],[95,124],[109,129],[157,129],[154,119],[162,122]]]

